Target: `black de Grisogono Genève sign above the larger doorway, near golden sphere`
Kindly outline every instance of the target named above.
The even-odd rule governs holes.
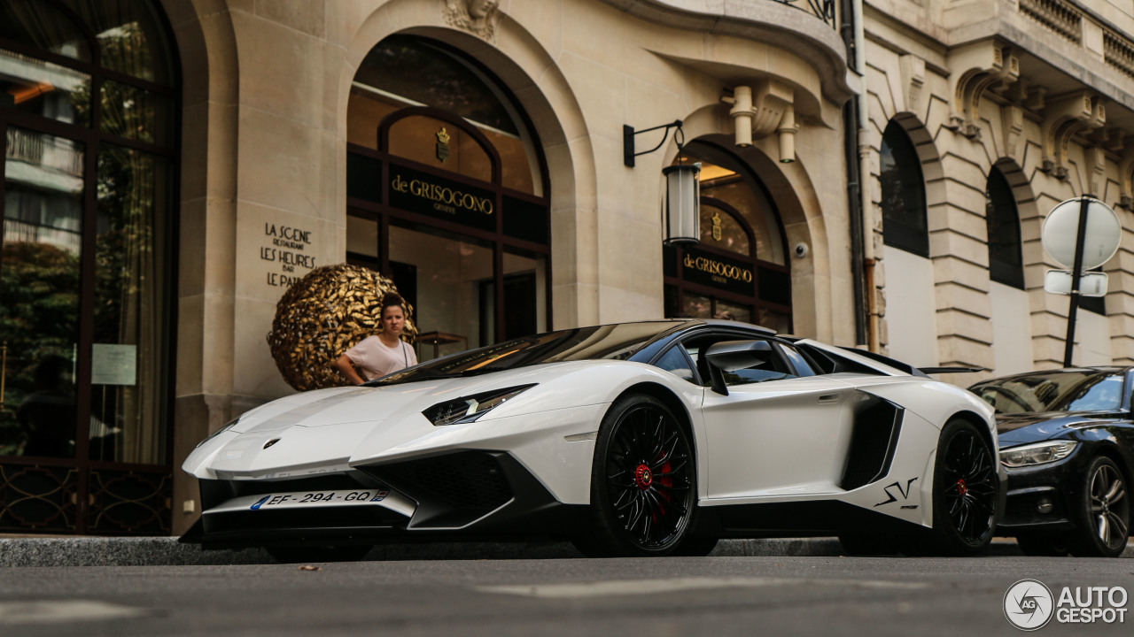
[[[497,229],[493,192],[401,165],[390,165],[390,205],[481,230]]]

